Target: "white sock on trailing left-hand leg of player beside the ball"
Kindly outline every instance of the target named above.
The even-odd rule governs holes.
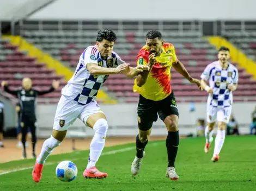
[[[44,164],[46,158],[51,154],[54,148],[58,147],[62,142],[58,141],[56,138],[51,136],[50,138],[46,139],[44,144],[42,145],[42,150],[36,162],[39,164]]]

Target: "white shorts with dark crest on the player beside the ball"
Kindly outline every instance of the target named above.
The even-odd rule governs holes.
[[[81,105],[70,97],[62,95],[55,113],[53,129],[57,131],[68,130],[69,126],[75,122],[76,118],[81,119],[87,126],[87,119],[94,113],[103,113],[96,101]]]

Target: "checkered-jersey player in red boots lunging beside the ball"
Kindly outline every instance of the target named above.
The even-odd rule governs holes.
[[[144,70],[149,71],[150,69],[148,66],[142,65],[132,68],[129,63],[121,60],[120,56],[113,52],[116,39],[117,36],[112,30],[102,29],[97,34],[96,44],[87,47],[81,54],[73,77],[62,89],[52,135],[44,142],[41,153],[36,159],[32,173],[35,182],[41,180],[46,158],[54,148],[63,142],[66,131],[77,118],[95,132],[83,176],[95,179],[103,179],[108,176],[107,173],[101,173],[95,168],[104,148],[108,129],[105,114],[96,102],[97,92],[107,80],[108,75],[125,74],[126,77],[132,78]]]

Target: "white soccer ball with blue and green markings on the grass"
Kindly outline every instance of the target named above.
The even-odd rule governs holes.
[[[56,167],[56,175],[62,182],[71,182],[76,178],[76,164],[71,161],[62,161]]]

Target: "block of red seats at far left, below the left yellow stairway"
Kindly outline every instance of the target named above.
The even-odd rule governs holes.
[[[39,90],[48,90],[52,80],[60,80],[60,87],[57,91],[44,95],[39,103],[56,103],[60,91],[65,85],[62,75],[56,75],[53,69],[47,69],[44,63],[36,62],[36,58],[26,56],[26,52],[18,50],[17,46],[9,43],[8,40],[0,39],[0,81],[8,80],[11,89],[21,87],[22,78],[28,77],[33,80],[33,86]],[[10,95],[11,96],[11,95]]]

